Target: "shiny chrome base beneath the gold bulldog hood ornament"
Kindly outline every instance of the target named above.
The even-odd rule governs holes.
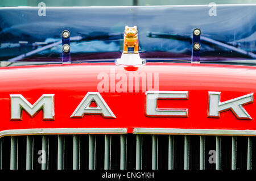
[[[115,59],[115,63],[121,65],[142,65],[146,63],[146,60],[142,59],[139,53],[122,53],[121,58]]]

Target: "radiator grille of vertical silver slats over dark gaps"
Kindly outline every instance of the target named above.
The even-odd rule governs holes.
[[[255,137],[246,136],[6,136],[0,138],[0,169],[251,170],[256,169],[255,144]],[[46,162],[40,163],[42,155]]]

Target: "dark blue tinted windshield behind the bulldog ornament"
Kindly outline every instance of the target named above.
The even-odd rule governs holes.
[[[256,5],[0,8],[0,61],[61,61],[61,32],[71,32],[71,61],[112,60],[125,26],[137,26],[142,58],[191,60],[200,28],[201,61],[256,59]],[[204,41],[205,40],[205,41]],[[217,43],[216,43],[217,42]],[[230,49],[230,47],[232,47]]]

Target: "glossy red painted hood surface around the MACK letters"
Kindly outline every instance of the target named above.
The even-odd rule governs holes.
[[[147,63],[137,73],[159,73],[160,91],[188,91],[188,100],[159,100],[159,108],[188,108],[188,117],[146,117],[144,92],[101,92],[116,119],[101,115],[71,118],[88,91],[97,92],[99,73],[110,70],[129,76],[129,69],[113,63],[38,65],[0,69],[0,131],[32,128],[181,128],[256,130],[256,103],[243,106],[253,120],[239,120],[232,111],[207,117],[208,91],[220,91],[221,102],[256,92],[256,68],[249,66]],[[115,81],[118,82],[118,81]],[[128,85],[128,83],[127,83]],[[110,82],[109,82],[110,86]],[[110,90],[110,88],[109,88]],[[141,89],[140,89],[141,90]],[[22,94],[34,104],[42,94],[55,94],[55,120],[22,113],[10,120],[10,94]]]

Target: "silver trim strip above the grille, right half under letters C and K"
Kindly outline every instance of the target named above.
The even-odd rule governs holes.
[[[196,134],[196,135],[230,135],[256,136],[253,130],[233,129],[178,129],[178,128],[134,128],[134,134]]]

